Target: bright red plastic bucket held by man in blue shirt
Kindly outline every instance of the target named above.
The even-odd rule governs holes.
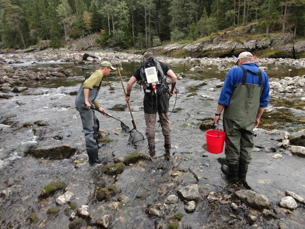
[[[219,128],[218,130],[207,130],[206,150],[211,154],[221,154],[222,151],[224,150],[225,137],[226,137],[226,133],[222,130],[219,130]]]

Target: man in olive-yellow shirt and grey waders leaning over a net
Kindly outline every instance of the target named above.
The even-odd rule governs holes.
[[[90,109],[90,107],[94,106],[96,109],[105,112],[96,101],[96,97],[99,94],[103,77],[109,75],[111,70],[115,70],[115,68],[110,62],[103,61],[98,70],[86,77],[85,81],[81,84],[75,99],[76,109],[81,115],[83,132],[85,133],[86,150],[90,164],[101,163],[98,156],[99,120],[95,116],[94,110]]]

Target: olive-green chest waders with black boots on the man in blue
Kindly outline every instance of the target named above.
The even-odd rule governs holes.
[[[237,177],[241,180],[246,179],[248,165],[252,159],[253,127],[263,90],[260,69],[258,72],[252,72],[243,66],[239,67],[243,70],[242,82],[233,87],[229,105],[224,108],[223,115],[228,168],[222,167],[221,170],[226,170],[223,171],[224,174],[229,174],[228,177],[232,180],[237,180]],[[251,77],[258,76],[258,85],[246,83],[247,72],[251,73]]]

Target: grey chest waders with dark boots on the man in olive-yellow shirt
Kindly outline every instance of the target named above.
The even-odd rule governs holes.
[[[90,76],[88,76],[85,79],[85,81]],[[83,89],[84,82],[81,84],[77,92],[75,105],[76,105],[76,109],[79,111],[81,115],[81,122],[83,124],[83,132],[85,134],[86,150],[89,157],[89,163],[100,163],[98,158],[99,120],[95,116],[93,109],[88,109],[85,107],[85,96]],[[99,83],[98,87],[94,87],[91,90],[89,90],[88,101],[90,102],[91,106],[94,106],[92,102],[98,96],[101,84],[102,84],[102,80]]]

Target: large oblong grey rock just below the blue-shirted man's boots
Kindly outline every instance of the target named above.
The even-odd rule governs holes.
[[[257,208],[271,207],[271,201],[264,194],[260,194],[248,189],[241,189],[236,191],[234,194],[238,197],[239,200],[249,204],[250,206]]]

